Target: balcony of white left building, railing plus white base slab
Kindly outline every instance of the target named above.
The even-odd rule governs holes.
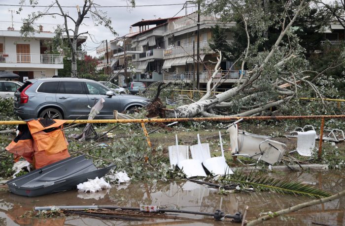
[[[0,53],[1,67],[63,68],[63,55]]]

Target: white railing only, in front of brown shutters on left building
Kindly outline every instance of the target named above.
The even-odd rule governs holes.
[[[2,63],[54,63],[62,64],[63,55],[55,54],[6,54],[0,53]]]

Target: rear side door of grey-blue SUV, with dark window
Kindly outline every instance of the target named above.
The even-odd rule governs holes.
[[[64,109],[65,118],[87,118],[91,110],[83,82],[61,81],[56,101]]]

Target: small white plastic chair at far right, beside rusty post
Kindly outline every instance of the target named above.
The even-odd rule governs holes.
[[[297,149],[289,153],[297,151],[302,156],[310,157],[315,148],[316,132],[309,130],[307,132],[293,132],[297,134]]]

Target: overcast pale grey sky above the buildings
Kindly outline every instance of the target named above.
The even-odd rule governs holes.
[[[38,5],[48,5],[53,0],[38,0]],[[54,0],[55,1],[55,0]],[[69,13],[69,16],[77,18],[77,9],[76,5],[83,5],[83,0],[59,0],[61,6],[72,6],[71,8],[64,8],[65,12]],[[99,4],[100,6],[126,6],[126,0],[94,0],[94,3]],[[186,11],[185,8],[182,9],[185,0],[136,0],[135,8],[128,7],[104,7],[99,8],[102,11],[107,12],[107,16],[111,18],[112,27],[121,37],[129,33],[129,27],[141,21],[141,19],[152,20],[158,18],[169,18],[173,16],[183,16]],[[19,6],[6,6],[3,4],[9,5],[18,5],[19,0],[0,0],[0,15],[2,18],[0,21],[10,22],[11,12],[9,9],[15,11],[18,10]],[[29,5],[29,0],[27,0],[27,5]],[[139,7],[139,5],[160,5],[160,6],[145,6]],[[162,6],[161,4],[181,4],[181,5],[169,5]],[[192,13],[196,10],[192,5],[188,5],[187,13]],[[44,10],[43,7],[23,7],[23,11],[20,14],[13,13],[13,21],[21,22],[23,18],[26,18],[28,14],[32,12]],[[58,12],[58,8],[50,10],[50,12]],[[88,36],[86,43],[84,43],[84,48],[88,52],[88,55],[97,56],[96,48],[102,43],[103,40],[112,40],[115,38],[114,35],[107,29],[102,26],[95,26],[91,18],[84,19],[84,25],[79,28],[79,32],[88,31],[91,34],[91,37]],[[57,16],[52,18],[51,16],[46,16],[43,19],[39,19],[37,23],[44,24],[63,24],[63,18]],[[72,23],[69,23],[69,26],[72,26]],[[138,29],[138,27],[134,28]]]

